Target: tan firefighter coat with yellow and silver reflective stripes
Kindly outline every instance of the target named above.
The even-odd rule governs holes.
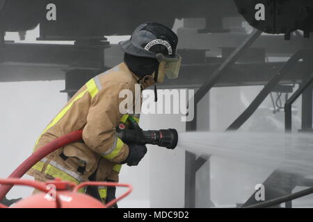
[[[123,116],[119,106],[125,99],[119,94],[122,89],[129,89],[135,95],[138,83],[145,89],[154,84],[153,76],[139,80],[125,62],[89,80],[45,128],[34,151],[76,130],[83,130],[83,139],[51,153],[28,174],[36,180],[61,177],[79,183],[96,171],[97,180],[118,181],[119,163],[129,153],[127,144],[116,136],[115,128]],[[135,104],[135,98],[133,101]]]

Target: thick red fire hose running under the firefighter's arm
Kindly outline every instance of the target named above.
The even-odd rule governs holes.
[[[82,130],[68,133],[66,135],[63,135],[62,137],[58,137],[49,144],[42,146],[38,149],[38,151],[35,151],[35,153],[33,153],[30,157],[24,160],[24,162],[22,162],[22,164],[20,164],[19,167],[17,167],[17,169],[15,169],[15,171],[10,174],[10,176],[8,176],[8,178],[21,178],[27,171],[29,171],[29,169],[31,169],[31,167],[33,167],[33,165],[42,160],[42,158],[47,156],[49,153],[52,153],[58,148],[66,146],[67,144],[71,144],[82,139],[82,134]],[[8,191],[10,191],[12,187],[13,185],[1,185],[0,200],[2,200],[6,196],[6,194],[8,194]]]

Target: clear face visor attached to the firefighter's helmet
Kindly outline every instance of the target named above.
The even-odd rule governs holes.
[[[157,53],[157,60],[159,62],[166,62],[165,65],[165,74],[168,78],[177,78],[179,74],[179,68],[182,63],[182,56],[176,54],[176,58],[170,58],[167,56],[163,56],[162,53]]]

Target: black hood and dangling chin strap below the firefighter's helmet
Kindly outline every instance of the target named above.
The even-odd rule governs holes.
[[[154,81],[157,82],[157,76],[159,72],[159,61],[156,58],[147,58],[140,56],[133,56],[125,53],[124,62],[127,67],[139,78],[145,78],[147,75],[154,75]],[[154,101],[157,101],[157,87],[154,85]]]

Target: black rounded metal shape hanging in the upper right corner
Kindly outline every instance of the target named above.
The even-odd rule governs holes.
[[[234,0],[239,13],[253,27],[271,34],[302,30],[305,37],[313,31],[313,2],[306,0]],[[259,12],[257,12],[259,10]],[[264,10],[264,12],[262,12]],[[262,18],[262,13],[264,17]]]

